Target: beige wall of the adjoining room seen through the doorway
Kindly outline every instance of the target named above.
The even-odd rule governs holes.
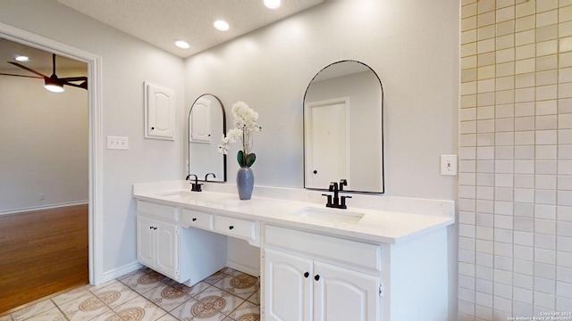
[[[0,106],[0,213],[87,202],[87,92],[1,76]]]

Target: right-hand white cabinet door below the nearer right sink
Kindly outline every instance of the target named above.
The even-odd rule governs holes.
[[[315,321],[378,320],[378,277],[320,262],[314,263],[314,277]]]

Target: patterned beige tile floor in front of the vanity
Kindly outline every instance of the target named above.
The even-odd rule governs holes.
[[[0,321],[259,321],[260,284],[223,268],[188,287],[148,268],[41,300]]]

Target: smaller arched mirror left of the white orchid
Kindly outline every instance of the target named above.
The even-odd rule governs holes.
[[[189,111],[189,174],[201,181],[226,182],[226,155],[218,152],[225,132],[221,100],[210,94],[200,95]]]

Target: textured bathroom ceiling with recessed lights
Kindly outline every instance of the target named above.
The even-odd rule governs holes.
[[[138,37],[182,58],[199,53],[306,10],[325,0],[282,0],[278,9],[268,9],[263,0],[58,0],[78,12]],[[228,31],[213,28],[216,20],[227,21]],[[173,45],[189,42],[189,49]]]

